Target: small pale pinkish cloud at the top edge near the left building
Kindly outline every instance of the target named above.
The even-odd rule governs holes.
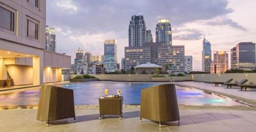
[[[63,9],[64,11],[77,12],[77,6],[73,4],[72,0],[58,0],[56,2],[57,7]]]

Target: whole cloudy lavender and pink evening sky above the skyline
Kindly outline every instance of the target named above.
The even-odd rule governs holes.
[[[154,41],[157,19],[169,18],[173,45],[185,45],[193,70],[201,71],[204,36],[212,51],[256,42],[255,5],[255,0],[48,0],[46,23],[55,28],[57,52],[71,56],[72,63],[78,47],[103,55],[105,39],[117,40],[120,63],[132,15],[144,16]]]

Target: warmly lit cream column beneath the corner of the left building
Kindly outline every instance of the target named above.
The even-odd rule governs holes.
[[[42,57],[33,57],[33,85],[41,85],[43,83],[43,61]]]

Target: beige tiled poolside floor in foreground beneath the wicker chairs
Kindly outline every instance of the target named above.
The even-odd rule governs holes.
[[[65,119],[50,122],[36,120],[36,109],[0,111],[0,131],[255,131],[256,112],[237,110],[180,110],[181,123],[139,122],[139,108],[124,108],[123,119],[105,116],[98,120],[98,109],[76,109],[77,122]]]

